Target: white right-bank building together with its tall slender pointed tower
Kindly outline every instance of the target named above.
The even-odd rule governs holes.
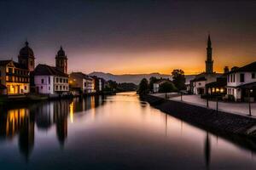
[[[222,74],[213,71],[213,60],[212,60],[212,41],[210,35],[207,39],[207,60],[206,60],[206,71],[195,76],[195,79],[190,81],[190,93],[191,94],[207,94],[207,83],[216,82],[218,77]]]

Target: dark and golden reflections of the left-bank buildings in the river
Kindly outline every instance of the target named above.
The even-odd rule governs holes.
[[[0,141],[18,137],[20,154],[29,160],[35,140],[35,123],[38,130],[48,131],[55,125],[56,139],[61,148],[67,139],[67,118],[73,122],[76,112],[95,109],[103,104],[102,96],[55,100],[26,106],[19,109],[2,109],[0,114]]]

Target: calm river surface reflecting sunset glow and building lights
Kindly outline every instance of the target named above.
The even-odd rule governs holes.
[[[20,105],[0,116],[1,170],[256,169],[241,139],[193,127],[135,93]]]

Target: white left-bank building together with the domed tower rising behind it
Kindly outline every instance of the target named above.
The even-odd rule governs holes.
[[[61,48],[55,57],[56,67],[38,65],[33,72],[36,93],[65,95],[69,92],[67,75],[67,56]]]

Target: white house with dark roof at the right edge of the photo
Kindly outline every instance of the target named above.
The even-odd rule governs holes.
[[[245,101],[249,96],[256,99],[256,61],[228,73],[227,94],[236,101]]]

